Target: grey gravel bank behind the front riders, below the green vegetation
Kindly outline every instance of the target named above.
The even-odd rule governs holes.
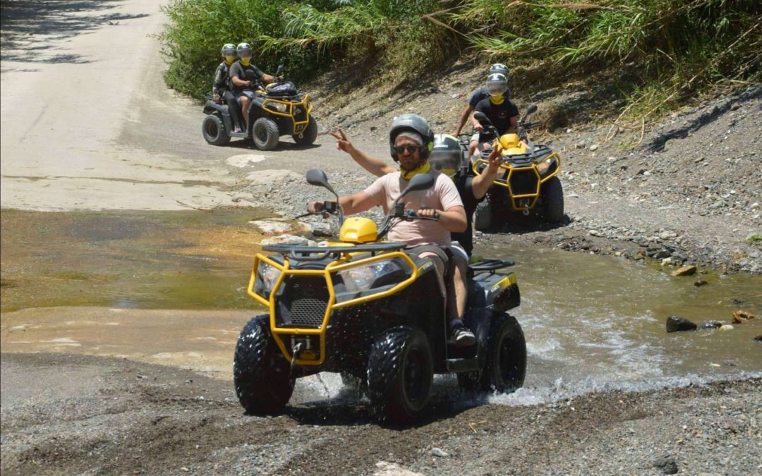
[[[364,150],[389,160],[385,134],[392,117],[423,113],[437,131],[452,133],[476,81],[478,75],[469,70],[453,72],[423,92],[326,94],[319,88],[316,95],[325,96],[316,112],[320,141],[330,145],[327,131],[342,127]],[[546,128],[536,129],[533,141],[551,145],[562,157],[565,221],[507,223],[500,234],[477,234],[477,242],[539,244],[670,266],[762,273],[762,169],[757,164],[762,86],[706,99],[658,120],[649,117],[652,123],[636,128],[617,125],[611,113],[596,113],[592,100],[580,99],[583,94],[567,93],[514,94],[520,109],[530,102],[539,105],[536,118]],[[571,120],[554,126],[567,111]],[[348,168],[345,158],[315,162],[328,171],[340,194],[370,183],[367,174]],[[296,216],[309,200],[327,197],[303,184],[292,173],[285,181],[255,180],[246,191],[257,203]]]

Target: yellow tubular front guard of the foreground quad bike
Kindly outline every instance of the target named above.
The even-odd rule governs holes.
[[[333,287],[333,280],[331,280],[331,273],[337,273],[338,271],[346,270],[347,268],[365,266],[367,264],[375,263],[376,261],[390,260],[393,258],[401,258],[402,261],[410,268],[410,276],[406,280],[397,283],[390,289],[386,289],[382,292],[377,292],[376,294],[372,294],[370,296],[362,296],[344,302],[336,302],[336,294]],[[260,296],[254,291],[254,287],[257,281],[257,270],[260,263],[267,263],[271,267],[275,267],[277,270],[280,270],[280,276],[278,276],[278,279],[270,292],[270,296]],[[285,356],[289,362],[292,359],[292,355],[290,350],[286,347],[286,341],[288,337],[292,335],[319,336],[320,355],[315,356],[314,353],[305,353],[301,356],[301,358],[296,359],[296,365],[319,366],[322,365],[322,363],[325,361],[325,332],[328,329],[328,322],[331,320],[331,313],[335,309],[347,308],[353,305],[360,305],[366,302],[374,301],[376,299],[392,296],[393,294],[410,286],[411,283],[415,283],[415,280],[418,279],[418,274],[418,267],[416,267],[413,260],[411,260],[411,258],[402,251],[392,251],[389,253],[378,254],[376,256],[367,257],[357,261],[351,261],[350,254],[342,254],[339,259],[331,262],[331,264],[328,264],[328,266],[323,270],[293,270],[290,267],[290,262],[287,256],[283,256],[283,264],[279,264],[276,261],[264,256],[264,254],[258,253],[254,259],[254,267],[251,269],[251,276],[249,277],[248,281],[247,293],[249,296],[256,299],[258,302],[269,309],[270,329],[273,338],[278,348],[280,349],[280,352],[283,353],[283,356]],[[323,321],[320,327],[277,327],[275,318],[275,297],[277,296],[277,290],[283,284],[283,280],[285,280],[287,276],[323,276],[325,278],[325,283],[328,286],[328,305],[325,308],[325,315],[323,316]],[[307,358],[310,356],[312,356],[312,359]]]

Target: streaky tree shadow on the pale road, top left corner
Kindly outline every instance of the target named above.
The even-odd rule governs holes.
[[[148,14],[103,13],[121,5],[120,0],[18,0],[0,2],[0,59],[14,62],[89,62],[78,54],[56,53],[56,43],[104,25]],[[4,69],[11,71],[11,69]]]

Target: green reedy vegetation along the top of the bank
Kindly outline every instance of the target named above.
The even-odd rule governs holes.
[[[670,107],[710,85],[760,80],[758,0],[174,0],[162,34],[168,84],[210,90],[219,47],[248,41],[256,64],[287,59],[306,79],[336,65],[395,81],[458,56],[538,61],[570,75],[611,72],[630,114]]]

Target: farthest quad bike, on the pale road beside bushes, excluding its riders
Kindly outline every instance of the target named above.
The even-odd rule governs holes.
[[[278,66],[280,77],[283,66]],[[258,149],[272,150],[280,136],[292,136],[298,145],[309,145],[318,136],[318,124],[312,117],[309,94],[297,91],[291,81],[272,82],[263,87],[259,78],[248,77],[258,85],[254,99],[248,107],[248,127],[245,132],[235,133],[228,106],[216,104],[211,98],[204,104],[207,114],[201,123],[203,138],[212,145],[225,145],[232,137],[251,139]]]

